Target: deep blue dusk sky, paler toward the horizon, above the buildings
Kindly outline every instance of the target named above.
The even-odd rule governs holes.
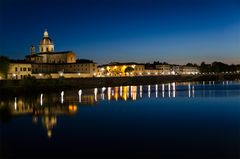
[[[239,0],[0,0],[0,54],[24,58],[45,28],[55,51],[111,61],[240,63]]]

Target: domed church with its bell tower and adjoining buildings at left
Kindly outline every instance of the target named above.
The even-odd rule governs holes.
[[[72,51],[56,52],[47,30],[39,44],[39,52],[31,45],[25,60],[11,60],[8,79],[36,78],[79,78],[97,75],[97,64],[91,60],[78,59]]]

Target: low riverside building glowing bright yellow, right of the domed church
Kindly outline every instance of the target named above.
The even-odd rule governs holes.
[[[141,76],[144,73],[144,64],[135,62],[112,62],[98,67],[98,76]]]

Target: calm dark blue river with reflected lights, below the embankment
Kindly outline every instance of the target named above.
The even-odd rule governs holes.
[[[19,94],[0,111],[1,158],[240,158],[239,81]]]

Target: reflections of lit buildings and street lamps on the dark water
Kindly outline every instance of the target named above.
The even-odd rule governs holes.
[[[211,82],[212,85],[215,84],[219,84],[218,82]],[[224,81],[223,82],[225,84],[234,84],[234,82],[232,81]],[[60,115],[64,115],[64,114],[70,114],[73,115],[73,113],[76,113],[77,111],[77,103],[79,100],[79,103],[82,104],[88,104],[88,103],[84,103],[86,102],[86,100],[91,100],[91,102],[93,101],[94,103],[94,99],[95,101],[99,101],[100,98],[100,93],[102,93],[103,95],[103,100],[111,100],[111,98],[114,98],[116,100],[127,100],[127,92],[129,92],[129,89],[131,92],[129,92],[131,94],[131,99],[132,100],[137,100],[137,98],[139,99],[142,97],[145,98],[150,98],[151,97],[151,87],[152,87],[152,99],[155,98],[154,96],[156,95],[156,98],[161,98],[161,92],[162,91],[162,97],[164,98],[165,93],[166,93],[166,97],[168,97],[168,92],[170,92],[169,97],[173,97],[175,98],[176,96],[181,97],[182,95],[184,95],[185,98],[188,97],[192,97],[192,98],[196,98],[196,97],[204,97],[205,95],[208,97],[212,97],[212,96],[218,96],[217,92],[215,92],[215,89],[207,89],[206,87],[200,87],[198,84],[199,83],[184,83],[183,87],[181,87],[181,85],[178,85],[179,83],[167,83],[167,84],[156,84],[156,85],[139,85],[139,86],[120,86],[120,87],[102,87],[102,88],[94,88],[94,89],[89,89],[85,92],[85,90],[80,89],[79,91],[72,91],[73,94],[70,95],[69,92],[66,92],[65,95],[65,99],[64,99],[64,91],[60,92],[60,96],[61,96],[61,103],[59,102],[59,92],[57,92],[56,94],[54,94],[54,96],[48,96],[48,94],[40,94],[40,105],[44,106],[44,107],[40,107],[39,106],[39,94],[36,96],[36,98],[34,97],[34,101],[30,100],[31,103],[27,103],[29,102],[29,100],[24,100],[21,96],[19,97],[13,97],[11,98],[11,111],[13,113],[13,115],[22,115],[22,114],[32,114],[33,116],[33,122],[36,124],[37,120],[40,119],[40,117],[43,118],[43,125],[46,127],[47,133],[48,133],[48,137],[52,136],[52,130],[54,130],[54,126],[57,123],[57,116]],[[206,81],[206,84],[208,84],[208,81]],[[166,85],[166,86],[165,86]],[[154,88],[155,86],[155,88]],[[196,96],[195,96],[195,86],[196,86]],[[207,86],[207,85],[206,85]],[[138,88],[139,87],[139,88]],[[165,88],[166,87],[166,88]],[[162,90],[160,90],[162,88]],[[188,89],[188,90],[187,90]],[[166,90],[166,92],[165,92]],[[184,91],[181,91],[184,90]],[[206,90],[206,92],[205,92]],[[84,91],[84,94],[83,94]],[[155,91],[155,95],[154,95],[154,91]],[[167,92],[168,91],[168,92]],[[179,92],[176,92],[179,91]],[[181,91],[181,92],[180,92]],[[188,94],[187,94],[188,91]],[[76,95],[76,93],[78,92],[78,97]],[[114,92],[114,96],[112,96],[112,92]],[[139,96],[138,96],[138,92],[139,92]],[[90,95],[89,95],[89,94]],[[94,95],[93,95],[94,93]],[[105,94],[106,93],[106,94]],[[215,94],[216,93],[216,94]],[[226,92],[226,96],[231,95],[231,94],[227,94],[229,93],[228,91]],[[87,94],[87,95],[85,95]],[[148,97],[147,97],[148,94]],[[98,97],[99,95],[99,97]],[[107,96],[106,99],[104,99],[104,95]],[[159,95],[159,96],[158,96]],[[43,97],[44,97],[44,105],[43,105]],[[51,101],[49,101],[49,98],[51,97]],[[166,98],[165,97],[165,98]],[[31,98],[32,99],[32,98]],[[14,100],[14,101],[13,101]],[[64,101],[65,100],[65,101]],[[164,100],[164,99],[163,99]],[[190,100],[190,98],[189,98]],[[13,103],[14,102],[14,103]],[[26,103],[25,103],[26,102]],[[34,104],[33,104],[33,103]],[[49,103],[48,103],[49,102]],[[74,103],[75,102],[75,103]],[[37,104],[35,104],[37,103]],[[71,104],[69,104],[71,103]],[[74,104],[73,104],[74,103]],[[56,105],[53,105],[56,104]],[[68,107],[65,107],[66,104],[69,104]],[[66,109],[68,108],[68,109]]]

